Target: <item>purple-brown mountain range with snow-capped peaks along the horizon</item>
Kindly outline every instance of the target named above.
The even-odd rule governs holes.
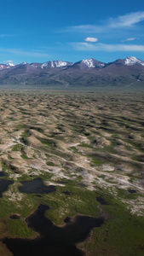
[[[112,62],[47,61],[0,64],[0,84],[47,86],[144,85],[144,61],[127,57]]]

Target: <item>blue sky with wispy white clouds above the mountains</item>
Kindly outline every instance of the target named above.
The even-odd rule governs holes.
[[[143,0],[7,0],[0,62],[144,60]]]

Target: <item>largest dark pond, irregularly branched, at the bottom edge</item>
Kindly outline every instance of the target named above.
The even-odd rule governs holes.
[[[40,236],[34,240],[5,238],[3,243],[14,253],[14,256],[83,256],[76,244],[84,241],[95,227],[103,224],[103,218],[76,216],[64,227],[53,224],[44,216],[49,207],[40,205],[26,223]]]

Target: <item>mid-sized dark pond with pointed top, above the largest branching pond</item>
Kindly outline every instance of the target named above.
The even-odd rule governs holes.
[[[55,186],[46,186],[43,184],[42,179],[35,178],[30,181],[21,182],[22,186],[19,187],[20,192],[27,193],[27,194],[45,194],[55,192]]]

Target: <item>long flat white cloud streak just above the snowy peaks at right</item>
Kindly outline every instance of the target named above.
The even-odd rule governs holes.
[[[143,51],[144,45],[137,44],[90,44],[90,43],[71,43],[73,49],[84,51]]]

